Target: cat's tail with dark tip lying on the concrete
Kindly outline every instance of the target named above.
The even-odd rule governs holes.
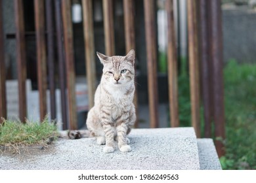
[[[60,138],[69,138],[69,139],[81,139],[86,137],[92,137],[88,129],[83,130],[68,130],[61,131]]]

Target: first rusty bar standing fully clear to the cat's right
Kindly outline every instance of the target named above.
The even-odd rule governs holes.
[[[154,0],[144,0],[150,127],[158,127],[158,76]]]

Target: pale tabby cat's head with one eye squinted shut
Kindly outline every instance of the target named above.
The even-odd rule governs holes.
[[[97,52],[103,64],[102,78],[113,86],[125,86],[133,82],[135,76],[135,51],[131,50],[126,56],[105,56]]]

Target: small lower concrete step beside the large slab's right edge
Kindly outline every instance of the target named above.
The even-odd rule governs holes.
[[[213,143],[213,139],[198,139],[200,169],[221,170],[221,163]]]

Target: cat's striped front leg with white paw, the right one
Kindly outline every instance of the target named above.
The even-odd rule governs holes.
[[[118,148],[121,152],[130,152],[131,146],[127,144],[127,125],[125,122],[119,122],[116,126],[117,131],[117,141],[118,141]]]

